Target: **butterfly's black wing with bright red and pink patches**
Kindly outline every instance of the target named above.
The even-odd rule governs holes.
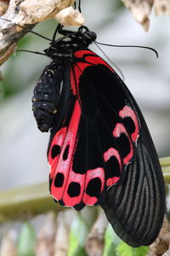
[[[107,189],[123,177],[133,160],[139,121],[111,67],[90,50],[75,56],[77,60],[83,56],[83,61],[71,67],[74,108],[67,113],[68,125],[64,122],[54,137],[49,159],[54,148],[60,149],[49,164],[54,198],[81,209],[102,203]]]

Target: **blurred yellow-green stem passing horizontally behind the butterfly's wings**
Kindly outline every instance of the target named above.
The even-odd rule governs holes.
[[[170,184],[170,157],[160,159],[166,184]],[[0,221],[7,218],[26,218],[50,210],[59,212],[64,207],[54,203],[48,191],[48,183],[11,189],[0,193]]]

